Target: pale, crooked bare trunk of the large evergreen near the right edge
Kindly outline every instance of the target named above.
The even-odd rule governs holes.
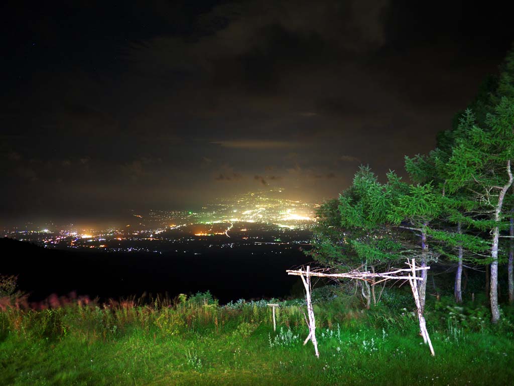
[[[503,199],[505,198],[505,194],[509,190],[512,185],[512,172],[510,171],[510,160],[507,161],[507,174],[509,176],[509,180],[506,185],[500,190],[500,194],[498,195],[498,204],[494,210],[494,221],[499,223],[501,220]],[[491,322],[498,323],[500,320],[500,309],[498,308],[498,240],[500,237],[500,228],[499,226],[495,226],[492,232],[492,248],[491,248],[491,289],[490,289],[490,299],[491,299]]]

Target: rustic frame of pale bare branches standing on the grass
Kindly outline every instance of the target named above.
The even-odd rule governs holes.
[[[430,347],[430,353],[432,354],[432,356],[434,356],[434,348],[432,347],[432,341],[430,340],[430,336],[428,335],[427,323],[425,322],[425,317],[423,316],[423,309],[421,308],[421,303],[419,300],[419,288],[417,282],[423,279],[421,277],[417,277],[416,275],[416,271],[427,270],[430,269],[430,267],[416,267],[415,259],[412,259],[410,261],[407,260],[406,264],[409,266],[409,268],[398,268],[393,271],[383,273],[375,273],[369,271],[360,272],[358,270],[345,273],[330,273],[329,269],[310,270],[310,266],[307,266],[305,270],[303,270],[302,268],[298,270],[288,269],[286,271],[287,274],[299,276],[302,279],[303,286],[305,287],[305,300],[307,303],[307,315],[309,319],[307,322],[309,327],[309,334],[303,342],[303,344],[307,344],[309,340],[313,342],[315,354],[319,358],[320,355],[318,351],[318,341],[316,340],[316,320],[314,317],[314,309],[311,299],[311,277],[332,279],[357,279],[369,282],[371,285],[375,285],[387,280],[404,280],[409,281],[409,284],[411,286],[412,296],[414,297],[414,303],[416,304],[417,308],[417,316],[421,336],[423,336],[423,341],[425,342],[425,344],[428,343],[428,346]]]

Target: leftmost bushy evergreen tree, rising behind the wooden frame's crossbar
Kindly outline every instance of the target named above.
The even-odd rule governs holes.
[[[374,270],[377,264],[405,259],[405,237],[387,219],[400,183],[394,174],[388,176],[388,183],[381,184],[368,167],[361,166],[352,186],[321,206],[314,248],[308,252],[315,260],[345,269]],[[367,282],[362,284],[362,295],[368,307],[372,299],[376,302]]]

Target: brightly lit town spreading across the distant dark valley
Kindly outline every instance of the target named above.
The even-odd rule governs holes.
[[[284,198],[284,189],[218,199],[199,210],[130,210],[127,224],[108,229],[53,223],[5,229],[4,236],[46,248],[108,252],[196,252],[201,248],[307,245],[317,204]],[[201,246],[201,248],[199,248]],[[280,252],[277,252],[280,253]]]

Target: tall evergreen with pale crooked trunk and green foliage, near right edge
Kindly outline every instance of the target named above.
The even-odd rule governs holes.
[[[498,322],[498,246],[505,224],[505,196],[512,185],[514,103],[503,97],[487,116],[485,127],[472,125],[457,138],[448,162],[448,190],[467,189],[482,208],[484,219],[472,225],[491,230],[490,302],[492,322]]]

